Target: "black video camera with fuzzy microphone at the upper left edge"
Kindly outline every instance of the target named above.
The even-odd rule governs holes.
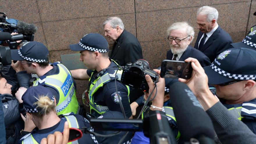
[[[27,24],[17,19],[8,19],[6,13],[0,12],[0,14],[2,14],[0,16],[0,32],[19,33],[16,35],[2,34],[0,45],[2,45],[3,40],[9,40],[8,45],[10,49],[17,49],[17,45],[19,44],[16,41],[26,40],[30,42],[34,40],[35,32],[37,31],[37,27],[34,24]]]

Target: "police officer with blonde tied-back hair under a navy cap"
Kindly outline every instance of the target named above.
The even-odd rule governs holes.
[[[43,86],[28,88],[22,95],[22,100],[27,113],[27,117],[24,118],[24,131],[27,131],[28,134],[24,133],[26,135],[22,135],[23,137],[20,139],[19,143],[40,143],[42,138],[46,138],[55,131],[63,132],[63,127],[66,124],[73,128],[90,128],[89,121],[81,115],[67,113],[59,115],[60,117],[58,117],[55,110],[56,100],[52,93]],[[67,123],[65,124],[66,121]],[[72,143],[85,143],[85,136],[76,141],[72,141]],[[86,137],[88,137],[88,135]]]

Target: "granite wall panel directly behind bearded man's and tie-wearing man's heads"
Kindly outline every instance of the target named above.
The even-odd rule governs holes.
[[[214,5],[219,11],[218,24],[228,33],[246,31],[246,23],[249,14],[250,1]],[[167,38],[166,29],[175,22],[188,22],[196,28],[196,13],[200,7],[177,8],[169,10],[158,10],[136,13],[137,38],[141,42],[164,40]],[[239,15],[236,15],[239,13]]]

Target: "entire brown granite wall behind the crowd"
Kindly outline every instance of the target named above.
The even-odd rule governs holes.
[[[196,13],[201,6],[215,7],[218,24],[227,31],[233,42],[242,41],[250,27],[256,24],[256,0],[0,0],[0,12],[38,27],[35,41],[47,46],[51,62],[60,61],[61,54],[75,53],[70,44],[79,42],[86,33],[104,35],[102,23],[118,16],[125,29],[136,35],[143,57],[151,67],[158,67],[169,50],[166,29],[174,22],[187,21],[195,28]],[[113,42],[109,42],[113,46]],[[112,47],[110,47],[112,48]],[[77,97],[88,82],[77,82]]]

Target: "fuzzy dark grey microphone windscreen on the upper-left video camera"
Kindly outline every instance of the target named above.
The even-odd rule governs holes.
[[[18,33],[27,33],[27,34],[35,34],[37,31],[37,27],[35,24],[27,24],[22,21],[17,22],[17,32]]]

